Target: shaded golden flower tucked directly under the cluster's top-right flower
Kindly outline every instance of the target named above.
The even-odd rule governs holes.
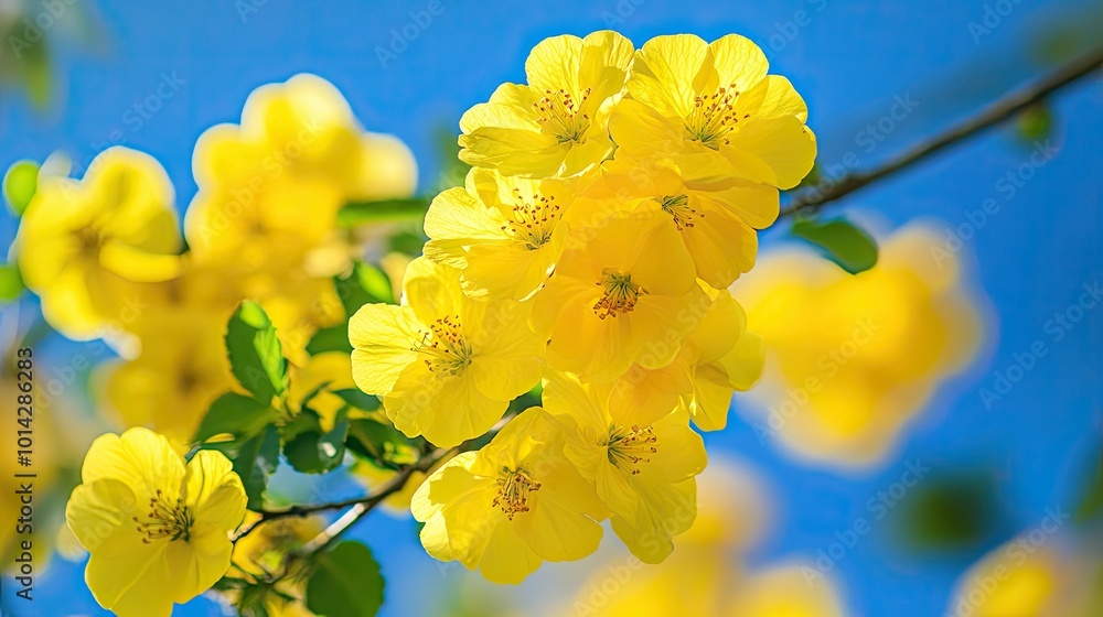
[[[697,277],[725,289],[754,266],[756,229],[778,218],[778,190],[740,178],[704,181],[684,174],[671,159],[618,156],[601,178],[575,201],[571,227],[597,226],[614,212],[665,215],[693,257]]]

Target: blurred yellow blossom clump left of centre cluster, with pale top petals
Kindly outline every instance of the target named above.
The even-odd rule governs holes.
[[[315,275],[335,273],[349,252],[332,259],[343,242],[334,235],[338,210],[409,196],[417,183],[409,150],[364,132],[341,93],[313,75],[257,88],[240,126],[200,137],[192,166],[200,191],[185,218],[189,245],[240,277],[306,264]]]

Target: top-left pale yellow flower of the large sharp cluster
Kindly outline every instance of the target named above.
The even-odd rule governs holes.
[[[460,160],[504,175],[574,175],[613,150],[607,128],[632,62],[612,31],[554,36],[525,62],[528,85],[502,84],[460,118]]]

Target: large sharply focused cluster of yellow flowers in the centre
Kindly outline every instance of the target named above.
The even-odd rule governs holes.
[[[763,361],[727,288],[815,139],[753,43],[615,32],[539,43],[527,84],[460,121],[462,187],[433,199],[403,304],[350,323],[353,377],[408,436],[453,447],[543,405],[414,495],[437,559],[516,583],[597,549],[649,563],[693,523],[733,390]]]

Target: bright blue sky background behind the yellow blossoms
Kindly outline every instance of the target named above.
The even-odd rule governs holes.
[[[635,1],[639,6],[619,2],[634,9],[614,28],[638,45],[664,33],[692,32],[711,40],[737,32],[765,46],[772,71],[790,77],[808,101],[822,164],[855,151],[863,165],[1041,75],[1048,65],[1034,51],[1039,36],[1097,4],[1026,0],[975,41],[968,24],[983,19],[984,0]],[[109,42],[93,55],[62,52],[62,101],[43,116],[10,90],[0,98],[0,165],[21,158],[42,160],[55,149],[86,163],[118,129],[127,145],[150,152],[168,169],[182,208],[195,192],[190,164],[199,134],[214,123],[237,120],[255,87],[311,72],[344,93],[366,129],[405,140],[422,166],[422,186],[429,187],[439,166],[433,138],[440,127],[454,129],[459,115],[485,100],[501,82],[523,80],[524,57],[543,37],[602,29],[618,11],[617,0],[442,3],[443,13],[384,69],[376,47],[387,46],[390,31],[401,29],[408,11],[424,10],[426,1],[269,0],[245,20],[228,0],[174,2],[171,9],[157,2],[100,2]],[[799,10],[807,11],[807,25],[791,41],[774,37],[771,45],[772,36],[792,32],[785,22]],[[1097,9],[1094,23],[1097,39]],[[124,115],[154,91],[162,73],[186,84],[140,130],[131,131]],[[858,131],[887,113],[895,95],[909,93],[920,102],[917,110],[867,154],[855,141]],[[1003,201],[996,182],[1030,151],[1002,130],[842,204],[876,212],[889,226],[921,215],[959,225],[984,199],[999,199],[1000,213],[966,242],[967,253],[975,256],[974,279],[992,301],[998,338],[989,340],[978,367],[947,388],[917,423],[899,456],[878,472],[839,475],[792,463],[760,444],[741,422],[709,435],[711,448],[750,461],[774,485],[779,532],[757,560],[814,559],[835,541],[836,531],[867,513],[866,500],[898,479],[906,461],[917,458],[940,469],[998,470],[1008,520],[986,548],[1035,524],[1047,508],[1072,502],[1099,450],[1103,312],[1090,312],[1056,344],[1043,324],[1077,301],[1082,284],[1103,278],[1103,84],[1097,76],[1082,82],[1061,93],[1052,107],[1060,154],[1014,199]],[[4,246],[13,234],[11,220],[0,224]],[[990,386],[993,370],[1006,368],[1013,354],[1039,338],[1050,354],[986,410],[977,389]],[[375,517],[356,535],[381,555],[390,584],[385,614],[424,614],[418,598],[432,596],[441,580],[415,543],[413,522]],[[860,543],[833,574],[849,615],[930,617],[946,607],[954,581],[977,556],[973,551],[915,561],[875,538]],[[57,560],[53,567],[49,578],[39,581],[36,611],[18,614],[99,614],[78,583],[83,564]],[[11,598],[6,600],[11,608]],[[212,615],[216,609],[197,600],[178,614]]]

